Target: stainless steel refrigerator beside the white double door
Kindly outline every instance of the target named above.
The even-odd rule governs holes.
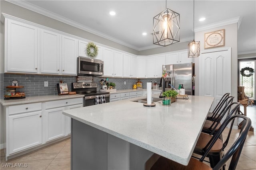
[[[194,63],[163,65],[164,80],[166,89],[179,88],[183,84],[185,94],[194,95]],[[171,86],[172,85],[172,86]]]

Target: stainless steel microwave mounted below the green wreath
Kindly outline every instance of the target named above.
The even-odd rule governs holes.
[[[78,57],[77,62],[77,75],[103,75],[103,61]]]

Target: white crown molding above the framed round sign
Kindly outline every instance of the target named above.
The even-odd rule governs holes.
[[[196,27],[195,32],[204,31],[206,29],[220,27],[220,26],[224,26],[224,25],[228,25],[228,24],[232,24],[232,23],[238,23],[237,29],[239,29],[241,21],[242,21],[242,17],[231,18],[229,20],[223,20],[223,21],[220,21],[220,22],[211,23],[211,24],[208,24],[208,25],[204,25],[202,27]]]

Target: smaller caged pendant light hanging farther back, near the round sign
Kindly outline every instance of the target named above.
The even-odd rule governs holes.
[[[195,0],[193,8],[193,34],[193,41],[188,43],[188,58],[200,56],[200,41],[195,41]]]

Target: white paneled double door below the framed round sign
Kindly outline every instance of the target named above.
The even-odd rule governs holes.
[[[214,108],[231,93],[231,48],[203,51],[199,65],[199,95],[214,97]]]

